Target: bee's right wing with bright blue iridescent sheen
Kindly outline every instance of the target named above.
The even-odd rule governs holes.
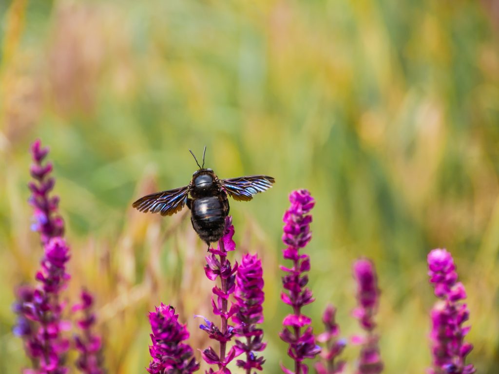
[[[253,195],[272,187],[275,180],[267,176],[248,176],[221,179],[220,185],[235,200],[250,201]]]

